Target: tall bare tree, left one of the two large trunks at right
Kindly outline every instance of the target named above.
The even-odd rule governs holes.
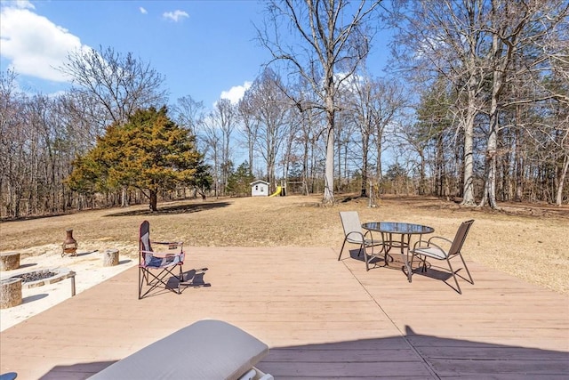
[[[397,4],[405,6],[397,13],[399,17],[392,19],[398,30],[393,53],[401,67],[408,69],[409,77],[419,74],[423,85],[429,79],[446,77],[458,93],[454,112],[464,138],[462,204],[475,206],[474,126],[485,85],[483,68],[479,65],[485,0]]]

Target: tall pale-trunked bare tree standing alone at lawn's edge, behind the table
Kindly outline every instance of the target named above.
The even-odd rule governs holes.
[[[284,0],[268,3],[268,21],[258,29],[261,44],[275,61],[301,75],[318,96],[317,103],[304,107],[325,109],[326,159],[324,204],[332,204],[334,181],[334,117],[338,110],[337,93],[369,52],[372,34],[367,22],[379,9],[381,0],[362,0],[352,6],[346,0]],[[349,16],[348,16],[349,15]],[[284,31],[285,20],[299,44],[289,44]],[[297,100],[298,104],[303,104]]]

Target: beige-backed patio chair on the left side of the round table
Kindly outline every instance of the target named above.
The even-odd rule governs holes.
[[[341,254],[344,250],[344,246],[346,246],[346,243],[359,245],[359,252],[357,253],[358,256],[362,255],[362,250],[364,250],[366,271],[370,270],[370,262],[374,258],[379,257],[382,252],[384,254],[383,259],[387,260],[387,253],[385,252],[385,247],[383,247],[383,241],[374,240],[372,231],[370,230],[364,233],[364,230],[362,230],[362,223],[359,220],[359,214],[357,214],[357,211],[341,211],[340,219],[341,226],[344,229],[344,242],[341,245],[338,261],[341,259]],[[381,251],[379,253],[374,253],[373,247],[377,246],[381,246]],[[372,248],[371,253],[368,254],[367,248]]]

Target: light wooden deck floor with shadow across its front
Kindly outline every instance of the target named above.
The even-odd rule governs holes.
[[[185,270],[207,267],[211,287],[139,301],[137,270],[124,271],[6,329],[0,374],[82,379],[207,318],[266,342],[258,367],[277,379],[569,376],[567,296],[477,263],[475,285],[462,281],[458,295],[419,273],[410,284],[400,270],[366,272],[356,254],[338,262],[331,248],[192,247]]]

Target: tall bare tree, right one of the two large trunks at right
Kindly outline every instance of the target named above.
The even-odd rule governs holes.
[[[498,142],[501,130],[500,117],[503,109],[509,106],[504,92],[514,78],[535,76],[542,70],[549,70],[547,55],[535,54],[536,44],[542,44],[545,37],[552,38],[557,24],[567,16],[569,4],[563,5],[558,0],[531,1],[512,3],[507,0],[491,0],[488,11],[487,29],[492,40],[488,55],[488,67],[492,77],[490,90],[490,109],[488,111],[490,125],[486,142],[485,191],[480,206],[496,204],[496,179]],[[565,27],[566,27],[565,21]],[[514,63],[523,62],[515,65]],[[531,92],[530,99],[516,99],[534,102],[536,93]]]

